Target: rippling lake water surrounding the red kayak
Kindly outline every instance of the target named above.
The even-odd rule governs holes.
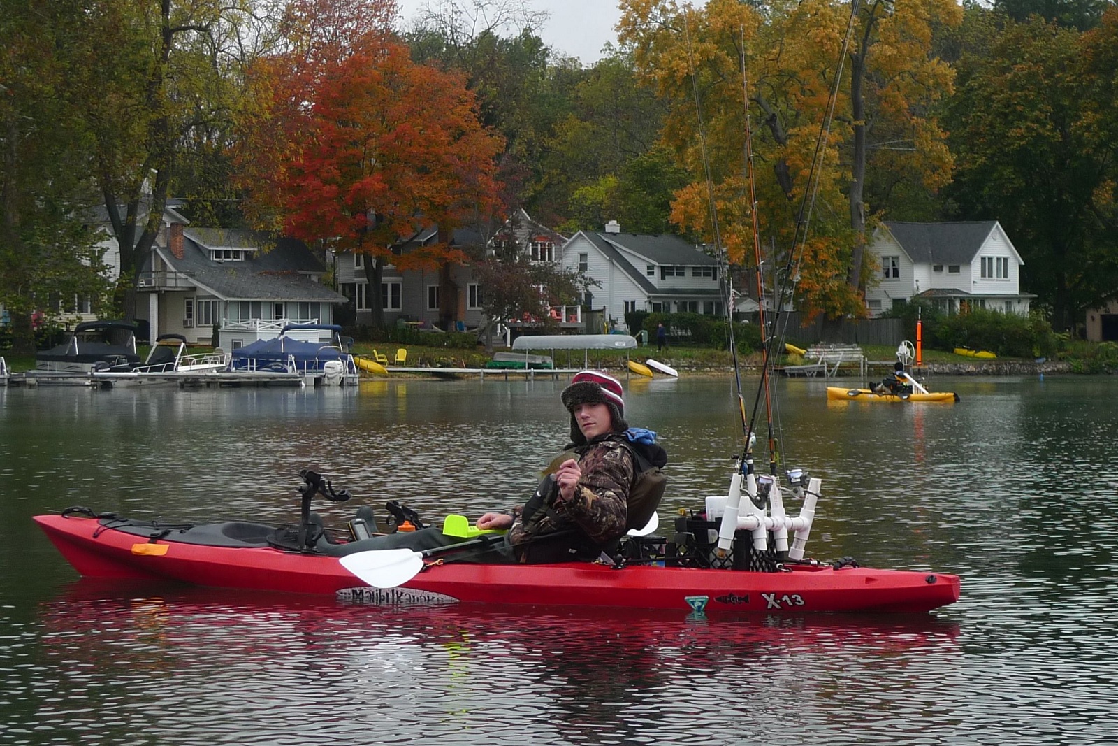
[[[566,442],[563,385],[0,388],[0,744],[1118,743],[1115,378],[929,383],[954,405],[774,381],[784,465],[823,479],[808,554],[963,577],[958,604],[918,616],[92,582],[31,522],[70,506],[287,522],[307,466],[356,502],[476,517],[521,503]],[[662,518],[724,492],[732,381],[629,380],[626,414],[670,453]]]

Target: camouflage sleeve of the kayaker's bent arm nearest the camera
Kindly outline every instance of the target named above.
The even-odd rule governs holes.
[[[628,491],[633,483],[633,456],[616,443],[600,443],[578,462],[582,476],[575,497],[562,503],[579,528],[598,544],[619,539],[628,518]]]

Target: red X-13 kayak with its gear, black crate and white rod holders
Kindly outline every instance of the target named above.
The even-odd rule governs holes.
[[[276,591],[359,599],[383,605],[512,604],[679,610],[701,613],[799,614],[804,612],[921,613],[959,597],[959,578],[925,570],[860,567],[843,558],[828,564],[803,557],[819,480],[793,472],[785,489],[804,500],[799,516],[784,513],[780,487],[764,484],[774,509],[742,510],[732,551],[720,553],[708,511],[676,519],[674,537],[628,536],[613,564],[496,565],[456,563],[456,550],[493,541],[466,533],[439,549],[366,549],[368,508],[348,529],[324,529],[311,498],[348,500],[314,472],[305,484],[299,525],[250,521],[215,523],[132,520],[88,508],[69,508],[35,521],[74,568],[87,577],[180,582],[201,586]],[[709,520],[708,520],[709,519]],[[654,525],[654,523],[653,523]],[[448,525],[447,525],[448,526]],[[362,530],[363,529],[363,530]],[[789,531],[795,533],[792,548]],[[444,532],[451,536],[449,529]],[[780,545],[780,542],[784,542]],[[409,555],[407,563],[397,555]],[[416,558],[411,555],[420,555]],[[413,564],[414,563],[414,564]],[[369,578],[348,567],[364,566]],[[378,569],[379,568],[379,569]],[[404,568],[402,576],[398,570]],[[385,578],[383,570],[389,569]],[[362,579],[363,578],[363,579]]]

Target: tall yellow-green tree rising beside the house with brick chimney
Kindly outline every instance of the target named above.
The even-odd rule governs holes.
[[[67,41],[67,87],[93,136],[127,317],[182,143],[192,128],[228,119],[239,65],[262,38],[258,25],[245,30],[252,10],[249,0],[88,0]]]

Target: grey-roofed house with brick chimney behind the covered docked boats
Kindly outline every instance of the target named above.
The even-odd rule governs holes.
[[[153,339],[173,332],[206,344],[217,330],[217,346],[230,351],[288,323],[333,323],[347,299],[320,283],[325,271],[301,240],[192,227],[168,210],[141,266],[138,315]]]

